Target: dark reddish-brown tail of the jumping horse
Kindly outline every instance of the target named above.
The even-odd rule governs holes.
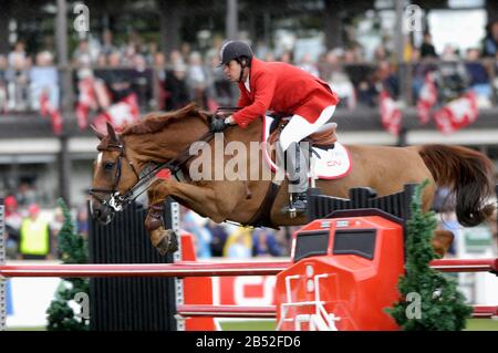
[[[495,165],[484,154],[459,146],[423,145],[418,154],[438,186],[456,197],[456,215],[465,227],[488,219],[495,210]]]

